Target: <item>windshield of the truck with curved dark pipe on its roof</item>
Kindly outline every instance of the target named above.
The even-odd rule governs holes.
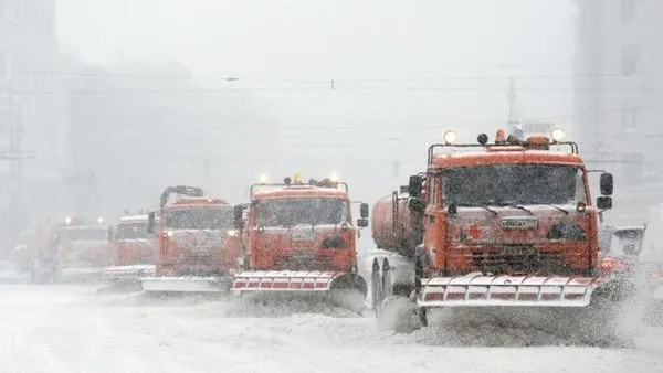
[[[167,230],[228,230],[234,226],[232,207],[177,209],[162,216]]]

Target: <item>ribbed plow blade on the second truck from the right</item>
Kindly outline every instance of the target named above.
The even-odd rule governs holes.
[[[338,271],[255,270],[235,276],[233,291],[330,291],[334,280],[345,275]]]

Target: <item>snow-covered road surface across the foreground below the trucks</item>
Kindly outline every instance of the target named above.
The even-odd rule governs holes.
[[[495,335],[507,347],[481,347]],[[370,317],[238,317],[220,301],[0,285],[1,372],[663,372],[662,329],[634,350],[520,347],[532,338],[487,327],[389,335]]]

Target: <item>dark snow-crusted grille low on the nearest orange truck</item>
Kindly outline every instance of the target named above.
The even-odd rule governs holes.
[[[540,252],[532,246],[473,251],[471,257],[474,270],[494,275],[566,275],[570,273],[561,253]]]

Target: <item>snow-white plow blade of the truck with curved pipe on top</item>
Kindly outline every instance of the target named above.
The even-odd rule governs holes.
[[[140,287],[146,292],[228,292],[232,278],[229,277],[140,277]]]

